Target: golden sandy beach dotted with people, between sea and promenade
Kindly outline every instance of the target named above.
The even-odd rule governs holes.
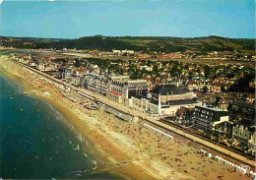
[[[88,110],[63,96],[65,91],[22,66],[0,59],[7,76],[26,92],[55,106],[76,129],[94,144],[100,158],[109,162],[96,171],[118,173],[127,179],[251,179],[197,153],[186,142],[169,140],[146,128],[143,121],[124,122],[98,109]]]

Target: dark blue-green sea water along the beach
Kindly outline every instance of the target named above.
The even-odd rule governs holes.
[[[0,178],[120,179],[60,112],[0,74]]]

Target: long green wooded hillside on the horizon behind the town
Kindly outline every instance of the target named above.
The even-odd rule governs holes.
[[[18,48],[77,48],[77,49],[131,49],[137,51],[177,52],[200,51],[243,51],[254,54],[255,39],[207,37],[168,37],[168,36],[86,36],[77,39],[52,39],[28,37],[1,37],[1,45]]]

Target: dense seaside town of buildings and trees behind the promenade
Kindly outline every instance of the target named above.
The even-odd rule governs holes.
[[[10,59],[228,150],[255,155],[255,54],[64,47],[12,53]]]

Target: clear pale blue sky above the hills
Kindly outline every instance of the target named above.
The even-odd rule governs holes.
[[[255,38],[255,0],[4,0],[0,6],[5,36]]]

